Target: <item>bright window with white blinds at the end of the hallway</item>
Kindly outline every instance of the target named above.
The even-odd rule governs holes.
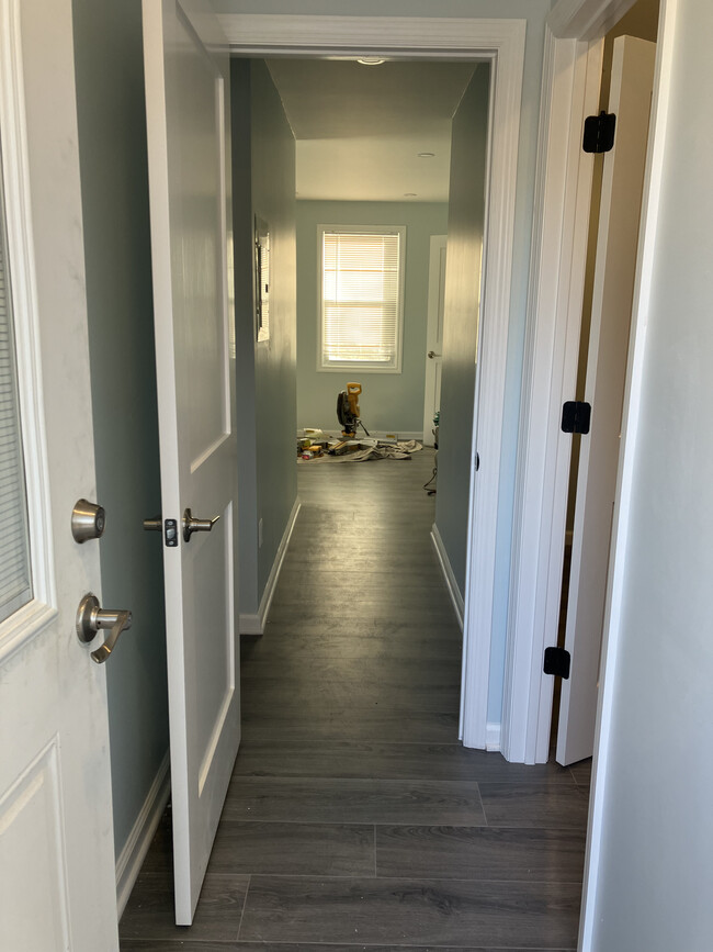
[[[401,226],[319,226],[319,370],[400,373]]]

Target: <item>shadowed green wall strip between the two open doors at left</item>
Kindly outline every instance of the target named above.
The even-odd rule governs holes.
[[[106,665],[116,853],[168,750],[140,0],[73,0],[102,598],[134,624]],[[78,495],[81,486],[77,486]]]

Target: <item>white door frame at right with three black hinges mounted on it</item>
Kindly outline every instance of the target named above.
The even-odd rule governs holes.
[[[524,763],[546,761],[552,718],[553,679],[543,674],[542,659],[557,632],[571,439],[559,432],[559,414],[575,392],[591,192],[592,159],[580,149],[581,127],[598,107],[602,37],[632,2],[559,0],[547,23],[502,710],[503,753]],[[675,7],[676,0],[661,0],[654,155],[665,121],[661,64]],[[645,192],[647,223],[655,198]],[[637,333],[633,324],[632,341]]]

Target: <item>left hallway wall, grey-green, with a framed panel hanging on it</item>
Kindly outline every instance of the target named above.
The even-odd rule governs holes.
[[[252,615],[297,497],[295,142],[264,61],[234,60],[231,91],[240,614]],[[259,344],[253,333],[254,215],[270,227],[270,340]],[[260,518],[262,547],[258,546]]]

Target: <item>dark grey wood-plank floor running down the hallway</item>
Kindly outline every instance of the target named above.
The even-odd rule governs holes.
[[[267,630],[242,639],[244,739],[195,922],[172,925],[167,813],[125,952],[575,949],[587,765],[459,743],[431,468],[299,467]]]

